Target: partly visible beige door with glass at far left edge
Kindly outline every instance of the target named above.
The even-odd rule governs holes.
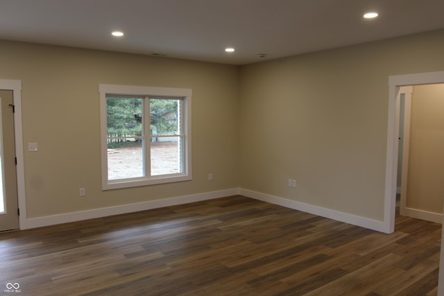
[[[19,228],[13,111],[12,91],[0,90],[0,231]]]

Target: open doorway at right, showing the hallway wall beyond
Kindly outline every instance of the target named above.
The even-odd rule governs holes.
[[[400,215],[442,223],[444,84],[401,87],[400,93]]]

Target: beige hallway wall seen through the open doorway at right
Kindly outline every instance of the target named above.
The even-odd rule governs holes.
[[[444,84],[413,87],[407,207],[442,214]]]

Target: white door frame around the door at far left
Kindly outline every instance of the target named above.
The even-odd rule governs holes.
[[[14,96],[15,157],[17,157],[17,198],[20,209],[19,228],[26,229],[26,195],[22,126],[22,80],[0,79],[0,89],[11,90]]]

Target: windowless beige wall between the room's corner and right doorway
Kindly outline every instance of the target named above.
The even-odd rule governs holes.
[[[241,187],[383,220],[388,76],[443,52],[434,31],[243,67]]]

